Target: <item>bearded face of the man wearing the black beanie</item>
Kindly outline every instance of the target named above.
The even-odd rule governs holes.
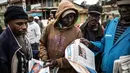
[[[27,32],[27,22],[28,20],[26,19],[15,19],[9,22],[9,26],[15,36],[25,35]]]

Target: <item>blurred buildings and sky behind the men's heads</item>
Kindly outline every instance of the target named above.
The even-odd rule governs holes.
[[[99,4],[103,7],[103,14],[100,20],[103,23],[108,16],[119,16],[117,11],[116,0],[69,0],[79,10],[79,18],[76,24],[81,24],[87,18],[87,9],[92,4]],[[47,25],[47,19],[50,14],[55,13],[61,0],[0,0],[0,26],[4,28],[4,12],[10,5],[22,6],[30,16],[38,16],[44,26]]]

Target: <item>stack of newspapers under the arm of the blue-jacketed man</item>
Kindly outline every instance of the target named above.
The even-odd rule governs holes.
[[[113,73],[130,73],[130,55],[114,61]]]

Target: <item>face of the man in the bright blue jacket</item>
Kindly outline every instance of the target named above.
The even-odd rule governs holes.
[[[130,22],[130,5],[119,5],[118,6],[121,19],[126,22]]]

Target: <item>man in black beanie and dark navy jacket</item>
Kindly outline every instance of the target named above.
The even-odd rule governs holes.
[[[26,38],[28,15],[20,6],[4,13],[7,28],[0,35],[0,73],[28,73],[32,49]]]

